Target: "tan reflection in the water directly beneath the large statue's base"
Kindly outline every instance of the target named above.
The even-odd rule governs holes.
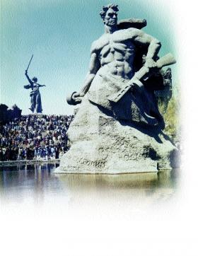
[[[177,170],[163,173],[139,173],[123,175],[57,175],[64,187],[72,192],[76,202],[81,197],[100,202],[110,199],[114,202],[148,204],[165,201],[173,197],[177,184]],[[88,198],[89,197],[89,198]]]

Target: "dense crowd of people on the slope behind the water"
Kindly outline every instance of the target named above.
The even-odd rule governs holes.
[[[69,149],[73,115],[23,115],[0,132],[0,161],[58,159]]]

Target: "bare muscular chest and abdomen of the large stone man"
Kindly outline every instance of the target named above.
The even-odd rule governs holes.
[[[132,42],[133,30],[117,30],[106,33],[95,41],[95,48],[100,59],[100,73],[132,78],[134,76],[135,46]]]

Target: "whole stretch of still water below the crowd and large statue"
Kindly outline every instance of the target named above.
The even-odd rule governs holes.
[[[30,199],[40,204],[62,198],[72,204],[86,198],[115,202],[146,199],[152,203],[173,197],[178,177],[178,170],[158,174],[58,175],[53,173],[55,168],[56,163],[0,167],[1,202]]]

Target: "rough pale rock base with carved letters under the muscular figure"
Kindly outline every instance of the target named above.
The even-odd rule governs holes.
[[[86,98],[68,136],[71,149],[55,173],[151,173],[177,167],[177,149],[163,132],[121,123]]]

